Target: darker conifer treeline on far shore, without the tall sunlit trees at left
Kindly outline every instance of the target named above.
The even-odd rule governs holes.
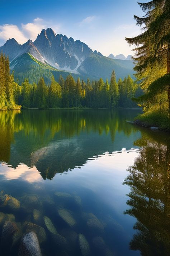
[[[112,72],[110,84],[88,79],[87,82],[80,78],[77,81],[69,75],[66,80],[60,76],[58,82],[52,76],[50,86],[47,86],[43,78],[38,84],[29,84],[28,79],[22,83],[22,91],[19,95],[19,104],[23,108],[71,108],[71,107],[90,107],[90,108],[129,108],[136,107],[131,98],[140,93],[137,84],[128,76],[124,81],[115,79]]]

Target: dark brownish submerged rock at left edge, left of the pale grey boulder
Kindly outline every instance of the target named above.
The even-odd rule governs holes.
[[[14,222],[5,221],[2,235],[1,235],[1,246],[4,247],[8,244],[10,246],[12,242],[13,235],[18,231],[18,227]]]

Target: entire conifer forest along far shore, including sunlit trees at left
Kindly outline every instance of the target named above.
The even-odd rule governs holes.
[[[70,75],[66,80],[60,76],[58,82],[51,77],[49,86],[40,78],[38,83],[29,83],[28,78],[19,85],[10,74],[9,59],[0,55],[0,109],[22,108],[132,108],[137,104],[132,98],[141,94],[142,90],[130,76],[116,82],[112,72],[110,82],[100,78],[99,81],[80,78],[77,81]]]

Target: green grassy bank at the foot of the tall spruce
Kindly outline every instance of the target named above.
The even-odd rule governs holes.
[[[157,126],[160,130],[170,131],[170,113],[168,111],[145,112],[135,117],[134,122],[143,127]]]

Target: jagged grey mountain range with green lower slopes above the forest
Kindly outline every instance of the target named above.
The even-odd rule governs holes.
[[[30,82],[37,82],[40,76],[49,80],[53,74],[57,79],[60,74],[65,78],[72,73],[74,78],[104,80],[110,78],[114,69],[117,78],[133,74],[131,55],[123,54],[105,57],[93,51],[80,40],[74,41],[62,34],[56,34],[51,28],[43,29],[36,40],[28,40],[23,45],[12,38],[0,47],[0,52],[9,56],[10,69],[20,82],[28,77]]]

